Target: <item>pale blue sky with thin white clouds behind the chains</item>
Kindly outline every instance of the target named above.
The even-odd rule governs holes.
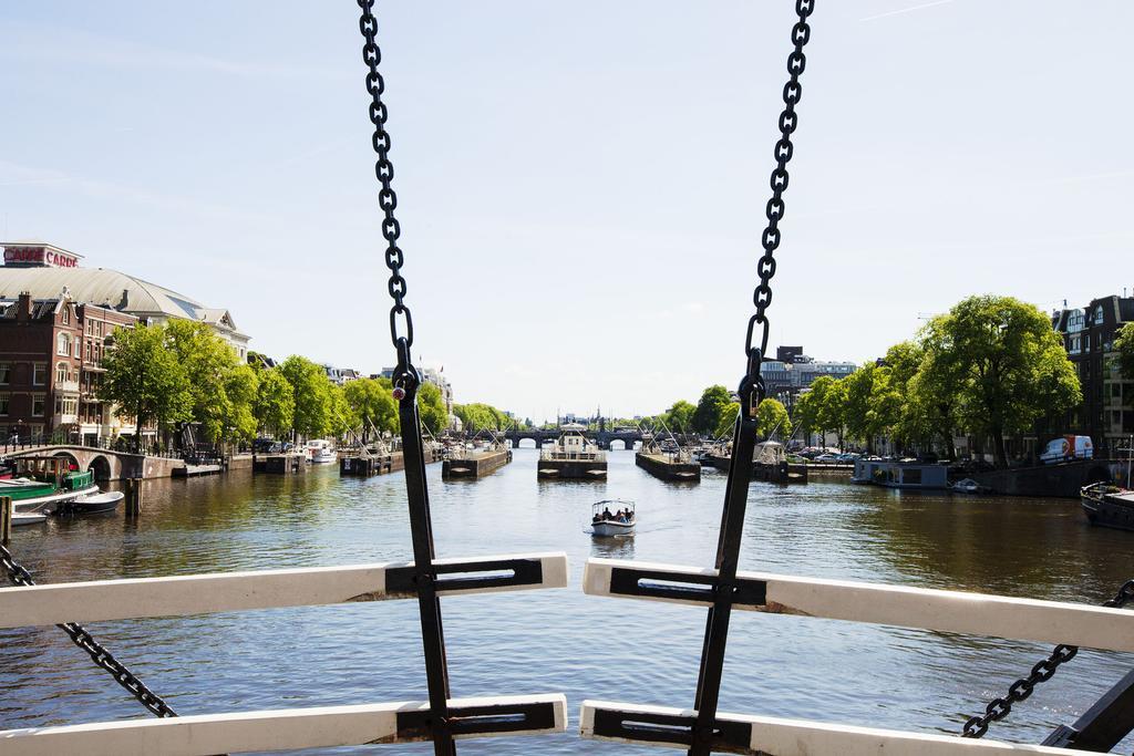
[[[354,2],[0,5],[0,231],[393,363]],[[745,368],[790,0],[379,2],[415,356],[633,416]],[[771,345],[1134,290],[1134,3],[819,0]]]

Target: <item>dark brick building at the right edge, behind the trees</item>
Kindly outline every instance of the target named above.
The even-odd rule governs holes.
[[[1067,432],[1091,436],[1095,456],[1112,457],[1134,433],[1134,376],[1122,374],[1114,349],[1118,331],[1134,322],[1134,297],[1102,297],[1083,308],[1065,307],[1051,321],[1083,388],[1083,404],[1066,418]]]

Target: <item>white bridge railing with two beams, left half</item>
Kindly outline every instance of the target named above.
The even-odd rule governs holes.
[[[561,553],[434,560],[449,596],[567,585]],[[0,588],[0,628],[415,598],[413,562]],[[430,740],[428,702],[293,708],[0,731],[3,756],[206,756]],[[455,738],[561,732],[557,694],[454,698]]]

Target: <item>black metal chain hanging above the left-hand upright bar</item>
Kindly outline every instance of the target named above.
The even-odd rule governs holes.
[[[409,314],[409,307],[405,304],[406,279],[401,275],[401,265],[405,256],[398,246],[398,238],[401,236],[401,226],[395,218],[393,211],[398,207],[398,195],[393,192],[393,163],[390,162],[390,134],[386,130],[386,120],[389,112],[386,103],[382,102],[382,94],[386,92],[386,80],[378,70],[382,62],[382,50],[378,46],[374,37],[378,34],[378,19],[374,18],[374,0],[358,0],[362,9],[362,17],[358,19],[358,29],[366,40],[362,48],[363,62],[370,68],[366,74],[366,91],[370,92],[370,121],[374,125],[374,136],[372,143],[374,152],[378,153],[378,161],[374,163],[374,176],[378,177],[382,188],[378,193],[378,205],[382,209],[382,237],[386,239],[386,266],[390,269],[390,280],[387,290],[393,299],[390,308],[390,340],[393,347],[400,350],[399,342],[404,339],[404,349],[408,355],[409,347],[414,343],[414,321]],[[405,331],[398,328],[399,320],[405,322]]]

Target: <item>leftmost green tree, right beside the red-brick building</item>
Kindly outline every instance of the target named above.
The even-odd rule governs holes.
[[[192,418],[193,399],[185,369],[167,347],[162,325],[117,329],[108,339],[99,389],[104,401],[134,414],[134,451],[142,452],[142,428],[151,421]]]

